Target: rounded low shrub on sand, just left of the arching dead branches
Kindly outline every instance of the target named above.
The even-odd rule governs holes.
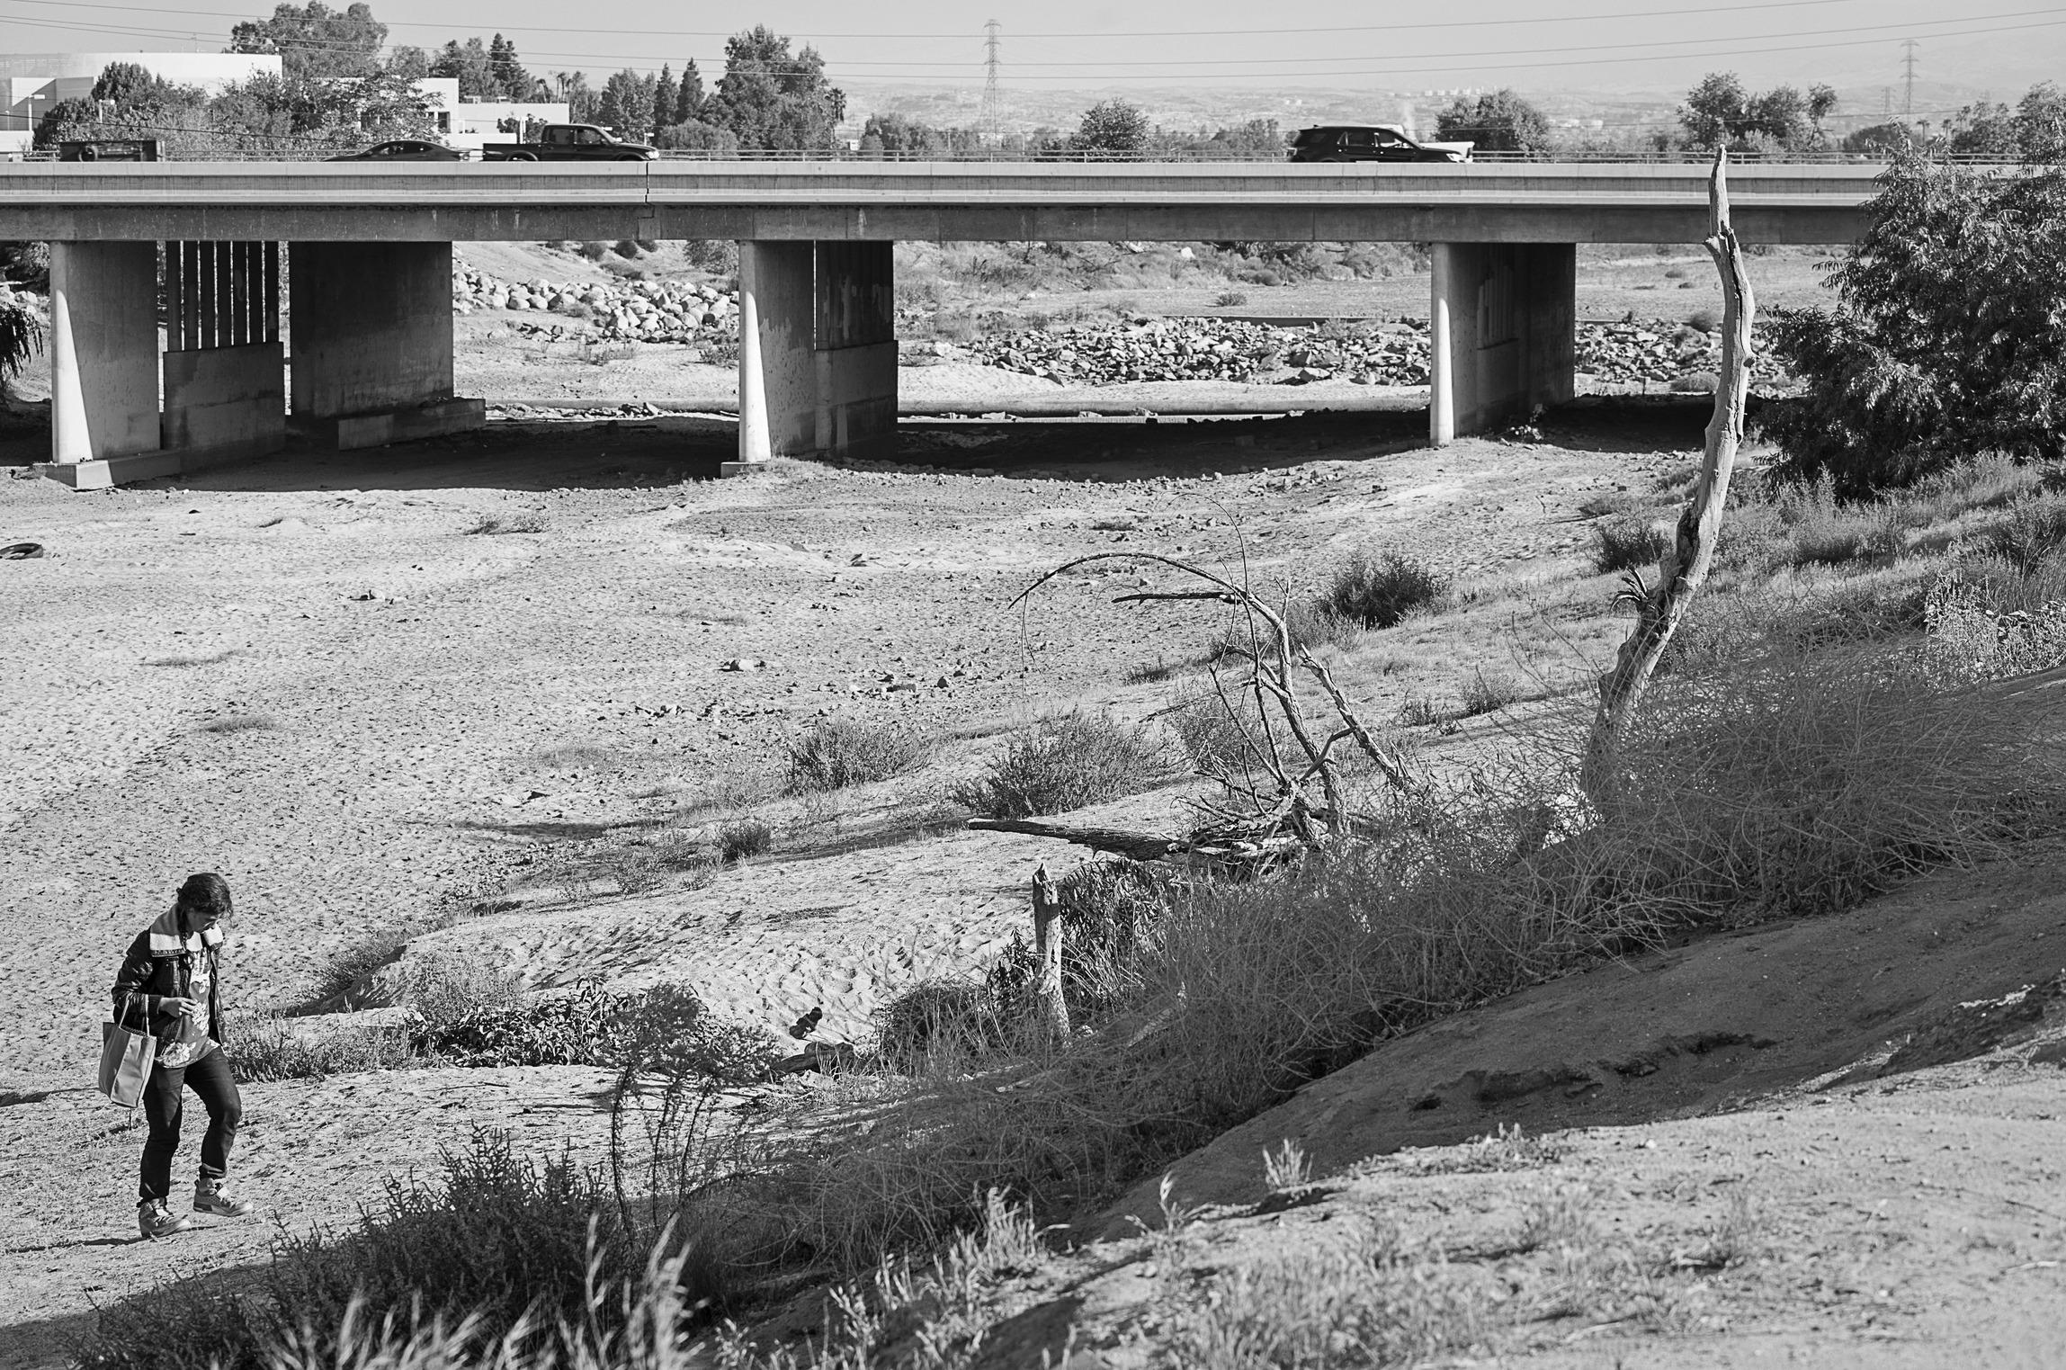
[[[1105,713],[1064,713],[1014,734],[954,798],[985,818],[1033,818],[1149,789],[1165,773],[1142,729]]]

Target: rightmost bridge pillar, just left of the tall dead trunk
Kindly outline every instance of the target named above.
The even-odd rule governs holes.
[[[1428,438],[1514,424],[1572,397],[1578,250],[1438,242],[1430,262]]]

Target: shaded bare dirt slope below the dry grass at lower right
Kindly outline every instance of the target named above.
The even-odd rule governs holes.
[[[1851,913],[1709,936],[1442,1019],[1186,1157],[1178,1190],[1192,1203],[1254,1203],[1264,1194],[1256,1157],[1283,1139],[1331,1172],[1498,1126],[1653,1122],[1791,1097],[1884,1056],[1963,1000],[2060,973],[2062,876],[2066,845],[2033,849]],[[1124,1215],[1149,1215],[1153,1203],[1142,1186],[1105,1232],[1124,1232]]]

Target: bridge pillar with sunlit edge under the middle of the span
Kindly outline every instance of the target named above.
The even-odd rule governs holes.
[[[888,242],[740,244],[740,459],[864,457],[897,438]]]

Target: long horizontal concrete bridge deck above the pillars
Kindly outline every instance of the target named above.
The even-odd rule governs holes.
[[[1740,165],[1750,242],[1845,242],[1876,165]],[[0,238],[1690,242],[1707,169],[1463,163],[4,163]]]

